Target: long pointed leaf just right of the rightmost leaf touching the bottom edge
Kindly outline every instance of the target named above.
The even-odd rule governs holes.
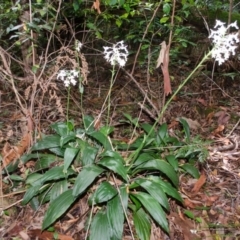
[[[160,227],[169,233],[166,214],[157,200],[147,193],[138,192],[134,193],[133,195],[141,202],[142,206],[149,212],[149,214],[160,225]]]

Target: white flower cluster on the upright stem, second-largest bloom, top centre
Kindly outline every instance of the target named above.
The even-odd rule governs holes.
[[[128,50],[123,41],[117,42],[113,47],[103,48],[104,58],[110,62],[111,65],[119,64],[120,67],[125,66],[128,57]]]

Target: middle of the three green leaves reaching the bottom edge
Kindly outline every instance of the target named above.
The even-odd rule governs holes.
[[[124,212],[118,195],[107,203],[107,217],[112,230],[112,238],[122,239]]]

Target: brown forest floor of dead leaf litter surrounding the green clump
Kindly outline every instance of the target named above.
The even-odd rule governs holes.
[[[173,92],[190,71],[189,66],[171,67]],[[233,72],[237,73],[236,76]],[[163,96],[161,72],[154,70],[148,78],[146,70],[139,67],[133,76],[151,97],[155,109],[160,111],[163,102],[168,99]],[[211,76],[211,71],[203,69],[191,78],[164,113],[162,122],[166,122],[172,132],[181,131],[178,119],[185,118],[191,136],[199,135],[203,142],[207,142],[209,157],[205,163],[197,165],[201,172],[199,180],[188,174],[180,176],[179,191],[184,205],[170,201],[170,236],[154,225],[151,240],[240,239],[240,75],[233,69],[215,72],[214,78]],[[86,114],[96,117],[101,112],[110,77],[111,72],[104,67],[90,74],[84,89],[83,108]],[[22,138],[21,124],[25,120],[14,95],[6,91],[10,87],[0,88],[0,145],[4,151],[6,142],[14,148]],[[58,88],[57,94],[65,112],[67,92]],[[145,96],[124,71],[120,70],[117,75],[112,96],[111,125],[116,129],[115,138],[129,136],[128,129],[120,124],[124,120],[123,113],[137,117],[141,122],[154,122],[156,110],[149,104],[147,109],[150,114],[140,108],[139,103],[143,103]],[[41,126],[38,126],[44,133],[49,132],[51,123],[65,118],[59,116],[56,105],[47,102],[46,99],[42,106]],[[104,114],[101,119],[105,119]],[[81,124],[78,89],[71,90],[70,117],[74,118],[75,124]],[[22,174],[21,168],[16,170],[15,175],[18,174]],[[3,175],[0,239],[57,239],[54,232],[40,230],[47,206],[43,205],[37,212],[30,206],[22,206],[24,187],[11,186],[6,179],[7,175]],[[82,199],[57,221],[54,231],[58,232],[58,239],[84,239],[84,212],[87,209],[87,199]],[[131,239],[127,231],[123,239]]]

